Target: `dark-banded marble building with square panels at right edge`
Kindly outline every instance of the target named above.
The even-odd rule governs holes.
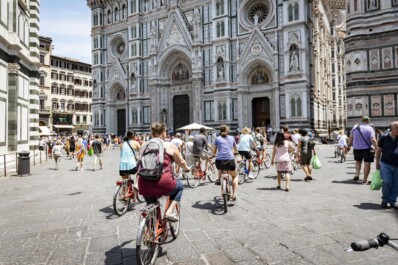
[[[371,117],[378,128],[398,118],[398,1],[347,1],[348,127]]]

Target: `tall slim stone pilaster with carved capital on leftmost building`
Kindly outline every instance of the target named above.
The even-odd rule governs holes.
[[[18,147],[18,63],[8,65],[8,151]]]

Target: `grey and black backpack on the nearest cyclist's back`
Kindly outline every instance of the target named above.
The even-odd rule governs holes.
[[[163,174],[164,147],[163,140],[153,138],[141,149],[137,174],[143,179],[158,181]]]

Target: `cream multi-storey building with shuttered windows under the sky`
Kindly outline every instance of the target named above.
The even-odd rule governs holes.
[[[91,65],[52,54],[52,39],[40,37],[40,130],[71,134],[90,130]]]

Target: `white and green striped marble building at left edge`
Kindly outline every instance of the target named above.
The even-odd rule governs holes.
[[[39,0],[0,0],[0,154],[39,139]]]

